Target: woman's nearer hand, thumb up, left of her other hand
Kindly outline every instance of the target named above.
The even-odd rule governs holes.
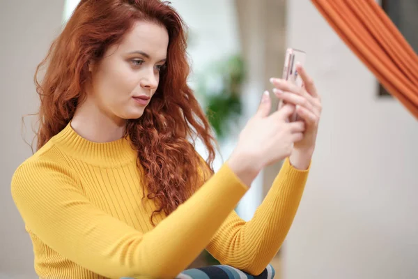
[[[284,105],[268,115],[270,108],[270,96],[265,91],[258,111],[242,129],[228,160],[229,167],[247,186],[263,167],[290,156],[293,143],[303,137],[304,122],[287,120],[295,111],[294,105]]]

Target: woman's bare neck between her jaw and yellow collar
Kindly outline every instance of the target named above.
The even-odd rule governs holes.
[[[91,142],[113,142],[123,137],[126,120],[105,114],[87,98],[77,107],[71,127],[78,135]]]

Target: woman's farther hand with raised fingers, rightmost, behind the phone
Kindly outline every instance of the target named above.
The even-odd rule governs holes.
[[[304,137],[300,142],[295,142],[290,160],[294,167],[307,169],[314,154],[322,105],[314,81],[306,70],[300,65],[296,70],[302,78],[302,87],[286,80],[273,78],[270,81],[276,87],[273,92],[277,98],[295,105],[298,118],[305,122]]]

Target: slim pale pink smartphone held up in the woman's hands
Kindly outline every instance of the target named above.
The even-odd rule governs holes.
[[[296,65],[300,63],[304,66],[305,59],[307,54],[302,50],[296,50],[294,48],[289,47],[286,50],[286,56],[284,57],[284,66],[283,66],[283,74],[282,79],[288,80],[297,86],[302,86],[302,79],[297,74]],[[283,100],[279,100],[279,109],[285,104]],[[296,121],[297,114],[296,112],[291,116],[289,121]]]

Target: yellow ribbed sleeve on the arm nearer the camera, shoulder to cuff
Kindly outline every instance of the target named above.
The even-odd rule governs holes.
[[[26,226],[72,262],[108,278],[174,278],[187,268],[246,193],[223,165],[150,232],[97,209],[72,170],[42,160],[22,164],[11,192]]]

